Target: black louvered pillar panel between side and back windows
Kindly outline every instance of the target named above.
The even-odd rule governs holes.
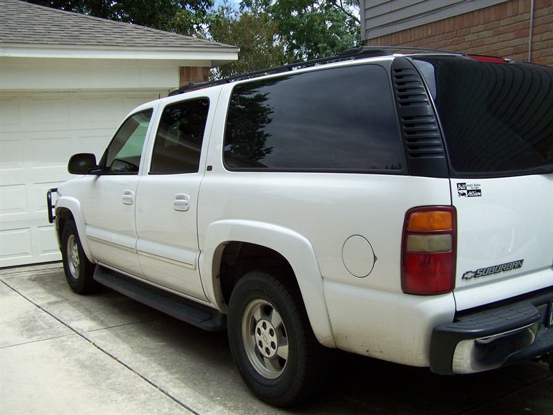
[[[418,71],[402,57],[394,59],[391,70],[409,172],[418,176],[447,176],[442,135]]]

